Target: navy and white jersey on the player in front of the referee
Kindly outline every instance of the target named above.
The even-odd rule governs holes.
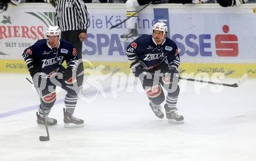
[[[63,69],[62,63],[66,63],[72,69],[77,67],[77,51],[71,43],[60,40],[59,46],[52,48],[47,39],[41,39],[34,43],[34,45],[24,50],[22,57],[26,61],[27,67],[36,65],[38,72],[51,74]]]

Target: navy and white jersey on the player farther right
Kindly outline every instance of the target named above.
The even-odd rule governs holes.
[[[180,56],[176,52],[177,45],[169,38],[165,38],[161,45],[157,45],[152,35],[141,35],[126,48],[129,60],[138,60],[145,69],[152,69],[161,63],[169,68],[178,68]]]

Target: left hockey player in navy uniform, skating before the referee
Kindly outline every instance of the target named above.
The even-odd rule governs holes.
[[[47,30],[47,39],[41,39],[24,50],[22,54],[27,68],[33,78],[35,87],[40,92],[41,104],[38,107],[37,123],[44,125],[44,115],[47,125],[56,125],[57,120],[49,118],[48,114],[56,100],[56,85],[67,91],[65,97],[66,109],[63,108],[65,127],[81,127],[84,120],[73,116],[77,103],[77,87],[74,74],[77,68],[76,49],[61,39],[61,30],[58,26],[50,26]],[[62,66],[66,61],[67,68]],[[38,78],[35,79],[35,76]],[[37,80],[37,81],[35,81]]]

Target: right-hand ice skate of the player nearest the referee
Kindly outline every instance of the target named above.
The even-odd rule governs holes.
[[[84,120],[76,118],[73,116],[73,114],[69,114],[65,111],[65,108],[63,108],[63,114],[64,114],[64,123],[65,127],[83,127],[84,126]]]

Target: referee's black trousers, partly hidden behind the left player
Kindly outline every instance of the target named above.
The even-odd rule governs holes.
[[[84,65],[83,65],[83,60],[82,60],[83,42],[80,42],[80,39],[79,39],[80,33],[81,33],[81,30],[62,31],[61,32],[62,38],[65,39],[66,41],[70,42],[74,46],[74,48],[77,49],[79,65],[77,67],[76,80],[77,80],[77,85],[79,87],[83,85],[83,81],[84,81]]]

